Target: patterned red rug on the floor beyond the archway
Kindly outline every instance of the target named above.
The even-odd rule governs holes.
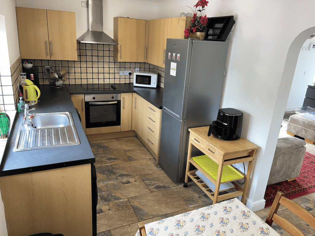
[[[295,180],[283,181],[268,185],[264,199],[265,208],[272,205],[278,191],[282,191],[288,199],[295,199],[315,192],[315,156],[306,152],[300,175]]]

